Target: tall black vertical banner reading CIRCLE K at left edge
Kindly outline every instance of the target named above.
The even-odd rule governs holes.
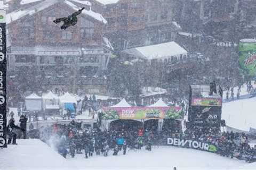
[[[0,148],[6,148],[6,23],[5,11],[0,9]]]

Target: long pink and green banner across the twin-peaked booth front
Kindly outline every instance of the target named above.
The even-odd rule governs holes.
[[[103,107],[102,119],[182,118],[181,107]]]

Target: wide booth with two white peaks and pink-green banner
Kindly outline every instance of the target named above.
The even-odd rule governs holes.
[[[166,105],[162,99],[159,99],[154,105],[146,107],[131,107],[125,99],[117,105],[103,107],[102,128],[109,130],[111,125],[121,124],[125,129],[125,122],[132,123],[130,129],[147,128],[150,130],[161,131],[164,119],[175,119],[183,116],[181,107]],[[123,125],[122,123],[123,122]]]

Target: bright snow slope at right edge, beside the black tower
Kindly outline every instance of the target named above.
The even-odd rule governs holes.
[[[256,98],[235,100],[222,105],[222,119],[232,128],[249,131],[256,129]]]

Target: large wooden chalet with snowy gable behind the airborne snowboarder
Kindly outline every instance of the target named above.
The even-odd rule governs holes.
[[[53,22],[85,6],[75,26]],[[107,21],[87,1],[44,0],[7,14],[9,70],[31,70],[46,89],[106,92],[111,44],[103,37]],[[38,80],[39,81],[39,80]]]

